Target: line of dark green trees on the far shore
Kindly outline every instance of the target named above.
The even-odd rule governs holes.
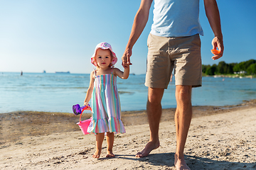
[[[202,72],[206,75],[213,76],[218,74],[243,74],[256,75],[256,60],[248,60],[240,63],[225,63],[202,65]]]

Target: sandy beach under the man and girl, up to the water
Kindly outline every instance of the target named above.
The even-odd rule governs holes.
[[[122,112],[126,133],[115,135],[114,158],[100,159],[95,135],[82,135],[79,116],[20,111],[0,114],[0,169],[175,169],[175,109],[164,109],[160,147],[148,157],[134,155],[149,140],[145,111]],[[90,114],[83,114],[82,120]],[[256,169],[256,100],[237,106],[196,106],[185,159],[193,169]]]

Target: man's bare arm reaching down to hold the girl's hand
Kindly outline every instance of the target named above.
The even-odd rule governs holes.
[[[127,42],[127,47],[124,50],[124,55],[122,56],[122,65],[131,64],[130,57],[132,56],[132,47],[135,42],[137,42],[139,36],[142,34],[146,23],[149,19],[149,10],[153,0],[142,0],[139,6],[139,10],[134,17],[134,23],[132,25],[132,31]]]

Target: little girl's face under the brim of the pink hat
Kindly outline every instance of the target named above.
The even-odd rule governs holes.
[[[101,48],[99,48],[96,51],[96,55],[95,55],[95,60],[97,62],[97,66],[104,68],[104,67],[109,67],[111,60],[112,59],[112,54],[110,52],[110,50],[103,50]]]

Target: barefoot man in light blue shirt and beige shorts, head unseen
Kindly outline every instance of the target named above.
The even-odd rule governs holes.
[[[134,18],[132,31],[122,57],[124,66],[131,64],[132,47],[141,35],[149,18],[153,0],[142,0]],[[213,60],[223,56],[223,35],[220,15],[215,0],[204,0],[206,16],[213,30],[213,49],[220,53]],[[151,150],[160,146],[159,123],[161,98],[167,89],[174,69],[176,80],[176,169],[189,169],[183,150],[191,123],[192,87],[201,86],[201,40],[203,30],[199,23],[199,0],[154,0],[154,23],[148,38],[148,57],[145,85],[149,87],[146,111],[149,118],[150,139],[136,157],[146,157]]]

